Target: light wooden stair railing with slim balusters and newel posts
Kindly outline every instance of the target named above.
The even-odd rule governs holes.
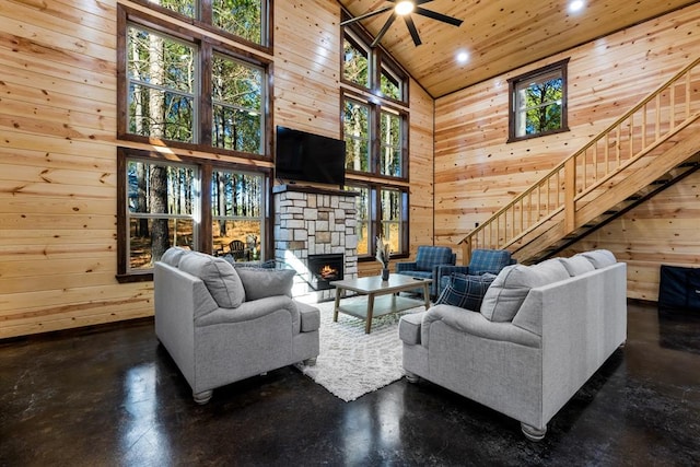
[[[562,211],[573,232],[576,200],[700,117],[699,65],[700,57],[472,230],[459,242],[463,261],[476,248],[508,248]]]

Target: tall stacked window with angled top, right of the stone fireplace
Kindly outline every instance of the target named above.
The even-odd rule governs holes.
[[[406,256],[408,245],[408,77],[372,48],[357,24],[343,30],[342,136],[346,184],[359,192],[358,256],[374,257],[376,236],[392,254]]]

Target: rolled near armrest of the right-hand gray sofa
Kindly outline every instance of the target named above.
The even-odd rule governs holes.
[[[451,328],[465,335],[478,336],[485,339],[506,341],[516,345],[539,348],[541,339],[512,323],[494,323],[488,320],[481,313],[470,312],[452,305],[435,305],[425,312],[421,326],[421,342],[430,346],[430,327],[433,323],[442,322]],[[466,337],[466,336],[465,336]]]

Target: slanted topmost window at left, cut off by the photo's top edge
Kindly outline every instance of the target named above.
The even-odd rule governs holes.
[[[154,8],[162,8],[183,16],[211,25],[244,40],[260,46],[268,45],[267,0],[148,0]]]

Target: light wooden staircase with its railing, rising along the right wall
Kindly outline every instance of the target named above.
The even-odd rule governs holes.
[[[700,168],[700,58],[462,242],[523,264],[555,255]]]

